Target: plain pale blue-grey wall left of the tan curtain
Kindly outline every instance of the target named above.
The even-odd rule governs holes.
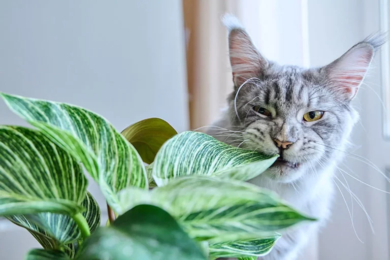
[[[180,0],[0,1],[0,91],[91,109],[119,131],[148,117],[184,131],[181,8]],[[0,124],[24,123],[0,102]],[[19,260],[35,242],[10,227],[0,220],[0,258]]]

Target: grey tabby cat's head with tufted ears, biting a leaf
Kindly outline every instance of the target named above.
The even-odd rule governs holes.
[[[230,124],[245,133],[241,147],[280,154],[264,174],[281,182],[334,161],[358,120],[351,101],[385,38],[369,37],[327,66],[304,69],[268,60],[237,19],[224,22],[234,82]]]

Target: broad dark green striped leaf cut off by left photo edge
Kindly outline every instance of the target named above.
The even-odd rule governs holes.
[[[0,215],[74,215],[86,186],[77,161],[42,133],[0,126]]]

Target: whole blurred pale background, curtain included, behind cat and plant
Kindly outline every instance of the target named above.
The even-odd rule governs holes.
[[[0,0],[0,91],[80,105],[102,114],[119,130],[147,117],[161,117],[181,132],[215,120],[232,90],[226,31],[220,23],[224,12],[241,19],[269,59],[308,67],[329,63],[387,26],[386,4],[387,0]],[[348,155],[352,158],[342,165],[347,173],[381,189],[386,189],[385,179],[358,156],[383,172],[390,164],[390,147],[382,133],[381,99],[388,99],[382,96],[381,70],[390,58],[384,57],[376,56],[367,85],[358,94],[362,120],[351,150],[356,156]],[[0,124],[23,122],[0,103]],[[345,183],[341,174],[338,177]],[[371,216],[375,234],[353,201],[354,227],[364,243],[356,238],[336,190],[330,223],[311,239],[300,259],[390,259],[388,196],[351,177],[346,180]],[[103,198],[90,183],[104,209]],[[349,194],[339,186],[352,209]],[[1,259],[23,259],[34,246],[38,245],[28,232],[0,219]]]

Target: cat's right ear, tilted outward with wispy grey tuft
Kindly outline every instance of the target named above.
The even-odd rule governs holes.
[[[386,41],[383,34],[372,35],[354,45],[340,58],[321,68],[330,87],[344,100],[352,100],[370,67],[375,51]]]

